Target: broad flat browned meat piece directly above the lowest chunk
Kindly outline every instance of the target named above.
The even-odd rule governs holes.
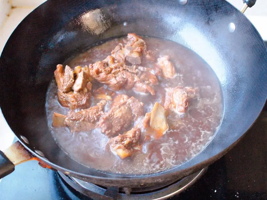
[[[134,97],[112,107],[99,119],[101,132],[111,137],[123,128],[127,128],[132,121],[143,114],[143,103]]]

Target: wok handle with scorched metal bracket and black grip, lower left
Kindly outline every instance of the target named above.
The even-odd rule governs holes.
[[[0,151],[0,179],[13,172],[16,165],[30,160],[37,160],[43,168],[53,169],[17,141],[5,151]]]

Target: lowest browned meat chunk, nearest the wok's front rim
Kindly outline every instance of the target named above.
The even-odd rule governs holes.
[[[130,131],[125,132],[123,135],[118,135],[109,140],[110,147],[112,148],[121,159],[134,154],[134,151],[138,148],[138,141],[141,137],[141,130],[139,128],[133,128]]]

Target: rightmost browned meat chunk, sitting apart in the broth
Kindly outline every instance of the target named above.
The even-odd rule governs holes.
[[[175,88],[167,88],[164,108],[177,113],[185,113],[190,100],[196,96],[196,91],[198,91],[198,89],[194,89],[193,87],[177,86]]]

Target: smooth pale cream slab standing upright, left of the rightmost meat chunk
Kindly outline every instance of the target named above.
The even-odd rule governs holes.
[[[150,127],[160,134],[165,134],[168,130],[168,112],[156,102],[152,108]]]

